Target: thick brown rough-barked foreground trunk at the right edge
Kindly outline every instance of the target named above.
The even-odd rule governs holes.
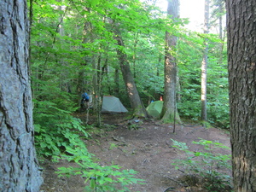
[[[256,1],[227,0],[234,191],[256,191]]]

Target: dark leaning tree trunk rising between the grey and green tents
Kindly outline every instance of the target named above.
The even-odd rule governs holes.
[[[114,39],[120,47],[125,47],[125,44],[120,36],[120,32],[116,29]],[[148,117],[146,108],[141,101],[141,98],[137,91],[137,86],[134,82],[129,62],[127,61],[127,55],[122,49],[117,49],[117,55],[119,58],[119,65],[123,74],[126,90],[131,102],[131,108],[133,109],[133,115],[139,117]]]

